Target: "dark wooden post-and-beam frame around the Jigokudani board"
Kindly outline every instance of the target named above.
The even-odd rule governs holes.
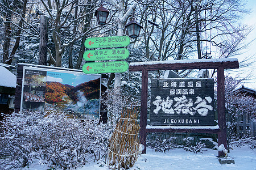
[[[226,118],[225,118],[225,94],[224,94],[224,69],[238,69],[237,58],[224,59],[188,59],[179,61],[155,61],[130,63],[129,71],[142,71],[142,96],[141,96],[141,122],[140,137],[144,145],[142,153],[146,153],[147,133],[216,133],[218,134],[218,146],[226,141]],[[152,126],[147,125],[147,95],[148,95],[148,71],[152,70],[184,70],[184,69],[217,69],[217,126]],[[223,156],[219,152],[218,156]]]

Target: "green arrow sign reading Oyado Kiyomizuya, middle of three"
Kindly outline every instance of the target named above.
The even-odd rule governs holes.
[[[98,60],[112,60],[112,59],[126,59],[130,52],[126,48],[116,49],[100,49],[100,50],[86,50],[84,52],[85,61]]]

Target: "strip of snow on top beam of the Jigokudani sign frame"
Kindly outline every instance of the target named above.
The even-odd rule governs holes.
[[[238,61],[238,59],[237,58],[181,59],[181,60],[166,60],[166,61],[131,62],[130,66],[172,64],[172,63],[195,63],[195,62],[233,62],[233,61]]]

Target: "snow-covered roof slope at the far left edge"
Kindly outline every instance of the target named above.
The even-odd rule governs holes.
[[[5,67],[0,66],[0,86],[16,87],[16,76],[7,70]]]

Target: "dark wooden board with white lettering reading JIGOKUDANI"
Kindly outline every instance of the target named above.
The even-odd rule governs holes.
[[[213,79],[152,79],[151,125],[214,125]]]

